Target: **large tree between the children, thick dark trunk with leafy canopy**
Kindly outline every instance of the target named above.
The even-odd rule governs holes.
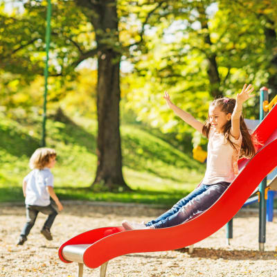
[[[109,190],[128,189],[123,179],[120,148],[120,60],[143,42],[144,26],[165,1],[52,1],[50,75],[74,76],[84,60],[97,58],[98,166],[94,184]],[[129,5],[130,4],[130,5]],[[43,72],[46,1],[26,1],[24,12],[7,15],[1,6],[1,69],[33,80]],[[129,11],[129,7],[134,9]],[[139,8],[139,10],[137,10]],[[119,30],[118,10],[122,24]],[[136,27],[129,28],[135,15]],[[132,25],[132,24],[131,24]],[[124,30],[124,28],[126,29]],[[128,30],[128,28],[130,30]],[[120,41],[120,31],[123,39]],[[127,31],[127,35],[126,35]]]

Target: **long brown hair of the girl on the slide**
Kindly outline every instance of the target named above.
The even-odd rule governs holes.
[[[217,98],[211,102],[210,106],[216,106],[220,107],[222,111],[224,111],[226,114],[233,114],[233,109],[235,108],[235,99],[233,98]],[[204,123],[204,127],[202,129],[202,132],[204,135],[208,137],[208,133],[211,129],[211,123],[210,120],[206,120]],[[232,147],[235,148],[235,144],[232,143],[230,139],[230,131],[231,131],[231,120],[227,121],[227,123],[222,127],[223,134],[226,137],[227,141],[231,143]],[[244,118],[241,115],[240,116],[240,132],[242,133],[242,146],[240,148],[240,158],[251,158],[256,154],[256,138],[251,137],[251,134],[249,134],[249,129],[247,129],[247,125],[244,122]]]

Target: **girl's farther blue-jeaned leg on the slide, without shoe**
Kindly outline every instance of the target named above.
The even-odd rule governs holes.
[[[201,184],[199,187],[195,188],[189,195],[179,200],[170,210],[168,210],[166,213],[163,213],[159,217],[157,217],[155,220],[151,220],[150,222],[146,223],[146,226],[152,226],[153,224],[157,224],[160,221],[166,220],[168,217],[175,215],[178,213],[180,208],[185,206],[190,200],[197,197],[197,195],[201,195],[207,190],[208,186]]]

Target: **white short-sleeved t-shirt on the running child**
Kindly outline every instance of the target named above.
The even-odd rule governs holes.
[[[50,195],[46,186],[54,186],[54,177],[49,168],[32,170],[24,181],[27,182],[26,205],[48,206],[50,204]]]

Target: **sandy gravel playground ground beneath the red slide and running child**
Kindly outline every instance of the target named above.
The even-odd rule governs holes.
[[[39,214],[28,241],[16,245],[25,223],[24,206],[0,206],[0,276],[77,276],[77,263],[65,264],[57,249],[66,240],[101,226],[116,226],[124,219],[150,220],[164,210],[141,205],[91,205],[65,202],[51,229],[54,240],[48,242],[39,233],[46,215]],[[240,212],[233,220],[233,241],[226,246],[225,229],[188,249],[152,253],[133,253],[111,260],[107,277],[277,277],[277,219],[267,222],[265,251],[258,251],[258,214]],[[84,267],[84,277],[99,276],[99,269]]]

